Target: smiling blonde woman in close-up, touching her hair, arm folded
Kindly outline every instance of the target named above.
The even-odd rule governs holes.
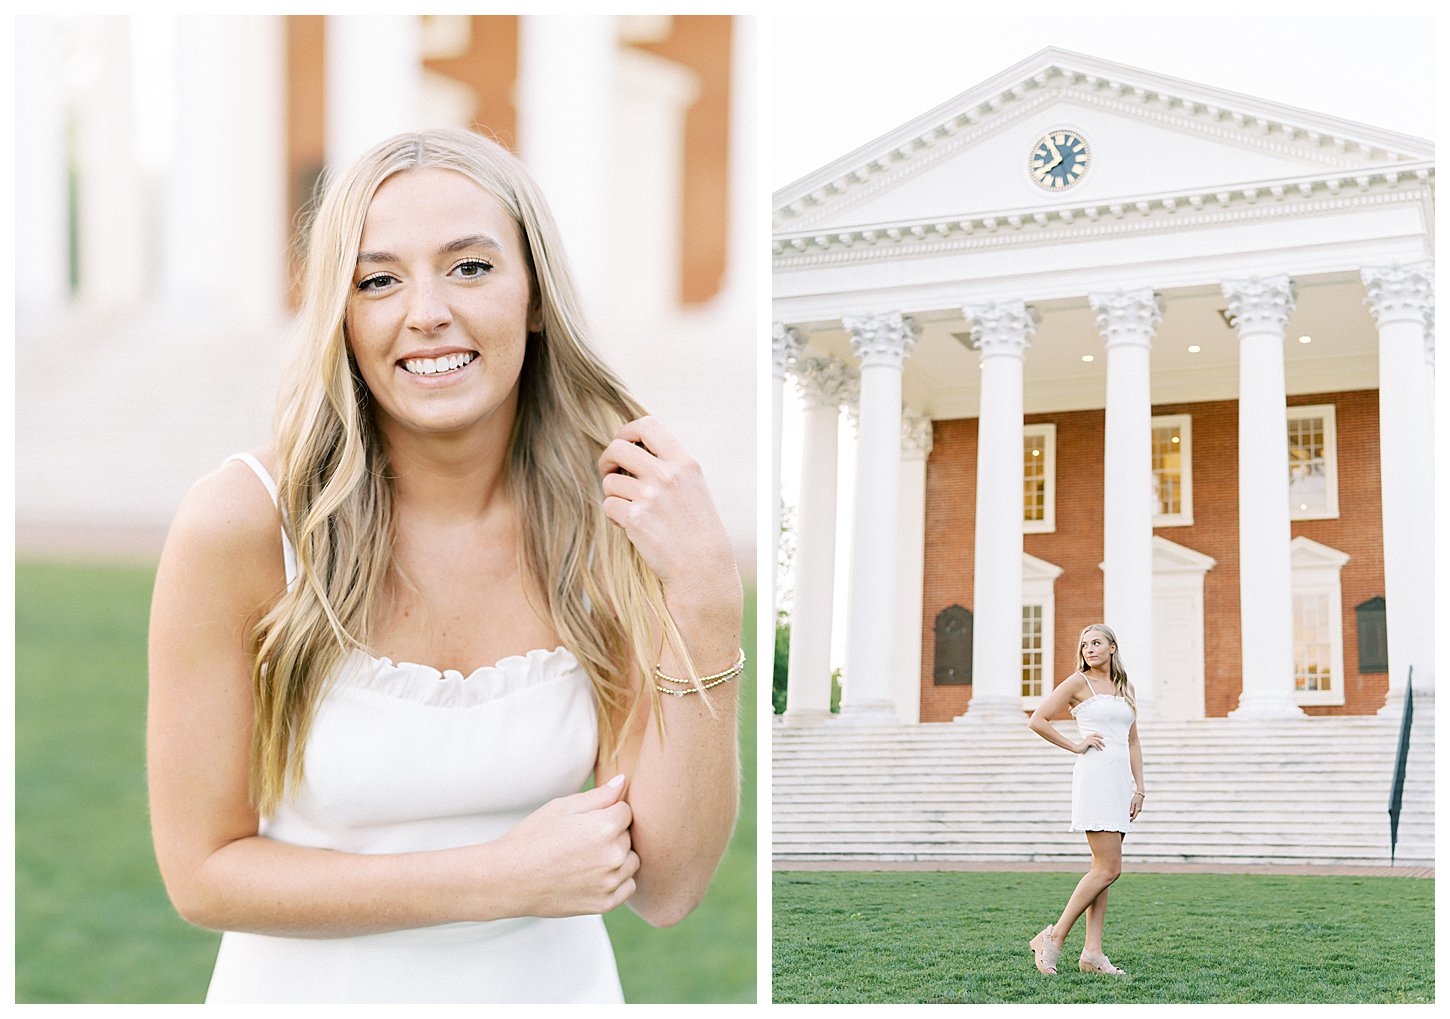
[[[700,470],[474,133],[331,180],[300,322],[276,445],[187,494],[152,604],[154,838],[228,932],[207,1000],[619,1000],[600,915],[682,919],[735,820]]]

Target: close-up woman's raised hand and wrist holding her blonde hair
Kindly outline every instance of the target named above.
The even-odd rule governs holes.
[[[705,473],[654,417],[626,423],[599,458],[605,515],[625,529],[673,602],[740,612],[740,577]]]

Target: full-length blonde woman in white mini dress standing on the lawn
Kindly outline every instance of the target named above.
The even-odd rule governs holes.
[[[1082,739],[1060,733],[1050,718],[1072,710]],[[1088,833],[1092,868],[1067,900],[1063,915],[1032,938],[1037,968],[1057,976],[1057,957],[1073,923],[1088,913],[1088,933],[1077,968],[1121,976],[1102,951],[1108,887],[1122,871],[1122,839],[1143,810],[1143,752],[1137,703],[1118,652],[1118,639],[1102,623],[1077,638],[1077,671],[1058,683],[1028,719],[1032,732],[1077,754],[1073,765],[1073,831]]]

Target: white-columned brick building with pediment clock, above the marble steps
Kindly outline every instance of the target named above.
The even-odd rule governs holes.
[[[1433,204],[1424,139],[1060,49],[777,191],[784,722],[832,644],[842,722],[1019,720],[1096,620],[1144,716],[1433,696]]]

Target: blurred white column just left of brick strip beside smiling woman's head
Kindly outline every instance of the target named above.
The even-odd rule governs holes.
[[[175,19],[162,296],[231,319],[281,315],[287,268],[281,17]],[[216,252],[225,252],[222,261]]]

